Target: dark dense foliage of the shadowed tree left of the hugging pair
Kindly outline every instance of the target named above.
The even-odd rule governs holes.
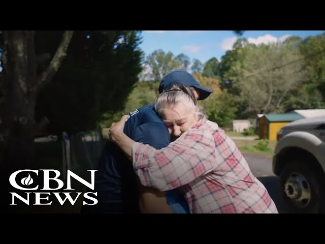
[[[52,54],[59,34],[38,32],[38,53]],[[52,133],[72,134],[95,128],[104,112],[123,109],[141,71],[139,34],[75,32],[66,59],[38,96],[37,118],[47,116]]]

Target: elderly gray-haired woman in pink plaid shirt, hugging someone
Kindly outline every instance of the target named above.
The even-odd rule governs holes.
[[[157,150],[128,138],[126,115],[110,128],[110,140],[132,159],[142,185],[177,188],[191,213],[278,212],[235,143],[206,119],[190,89],[174,85],[156,99],[155,109],[177,137],[168,147]]]

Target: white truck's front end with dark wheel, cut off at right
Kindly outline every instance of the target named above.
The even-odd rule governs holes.
[[[325,117],[296,120],[277,133],[272,169],[287,212],[325,212]]]

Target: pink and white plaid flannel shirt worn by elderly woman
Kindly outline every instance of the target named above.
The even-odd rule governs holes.
[[[177,188],[191,213],[277,213],[264,185],[216,123],[201,120],[168,147],[135,142],[133,167],[141,184]]]

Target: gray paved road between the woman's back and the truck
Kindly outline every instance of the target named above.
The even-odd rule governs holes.
[[[262,155],[243,153],[253,174],[263,183],[278,208],[285,213],[280,197],[280,179],[272,172],[272,158]]]

